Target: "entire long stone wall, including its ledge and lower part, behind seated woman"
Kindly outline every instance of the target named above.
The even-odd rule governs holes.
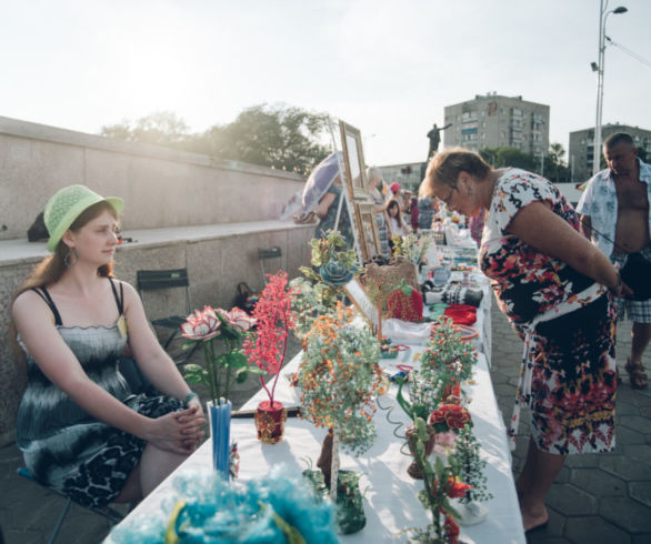
[[[134,284],[137,270],[188,268],[197,308],[230,308],[240,281],[261,288],[258,248],[282,249],[267,272],[282,268],[296,276],[310,260],[314,226],[277,221],[303,187],[299,175],[0,117],[0,446],[13,441],[26,386],[11,298],[47,254],[44,243],[28,244],[27,230],[72,183],[126,201],[122,231],[140,242],[120,248],[118,278]],[[157,241],[148,242],[148,233]],[[148,316],[183,313],[183,294],[148,294]]]

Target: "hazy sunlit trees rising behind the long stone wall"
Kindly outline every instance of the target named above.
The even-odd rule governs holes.
[[[307,174],[331,152],[323,143],[327,129],[326,113],[260,104],[244,109],[231,123],[214,124],[201,133],[191,133],[176,113],[159,111],[102,127],[100,134]]]

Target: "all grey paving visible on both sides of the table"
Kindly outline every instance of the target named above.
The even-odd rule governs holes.
[[[630,331],[629,323],[620,325],[620,369],[630,351]],[[499,406],[508,419],[515,394],[522,342],[495,304],[492,335],[493,386]],[[291,353],[297,349],[294,344]],[[644,356],[644,366],[651,371],[651,352]],[[236,406],[257,390],[257,382],[250,381],[237,391]],[[204,392],[199,392],[204,396]],[[617,425],[614,453],[568,460],[548,497],[550,524],[545,531],[532,534],[529,542],[651,543],[651,391],[632,390],[625,375],[618,389]],[[527,429],[528,414],[523,412],[521,431]],[[527,442],[522,436],[513,453],[515,474],[524,462]],[[17,476],[16,470],[21,465],[22,459],[14,445],[0,450],[0,526],[7,544],[42,544],[54,526],[63,500]],[[94,544],[109,531],[106,520],[72,505],[57,542]]]

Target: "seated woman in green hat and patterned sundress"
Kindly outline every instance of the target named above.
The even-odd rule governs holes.
[[[18,447],[38,482],[94,507],[142,498],[204,435],[199,399],[113,278],[122,206],[83,185],[57,192],[44,210],[53,254],[12,304],[28,369]],[[127,345],[163,394],[132,394],[118,367]]]

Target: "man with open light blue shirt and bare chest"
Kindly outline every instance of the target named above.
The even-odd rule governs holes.
[[[629,253],[638,251],[651,260],[651,165],[638,159],[633,139],[624,132],[607,138],[603,154],[608,169],[588,182],[577,206],[583,233],[621,266]],[[649,382],[642,355],[651,340],[651,300],[618,299],[617,309],[618,319],[625,311],[633,321],[631,354],[624,369],[634,389],[645,389]]]

